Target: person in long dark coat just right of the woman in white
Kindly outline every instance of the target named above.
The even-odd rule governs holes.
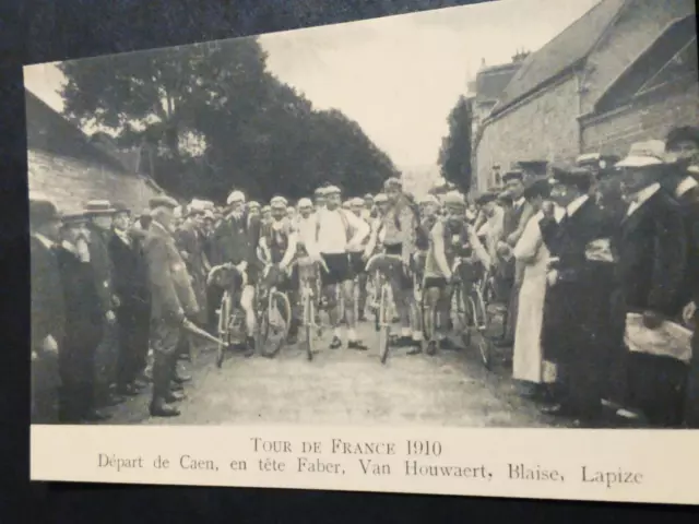
[[[544,410],[592,419],[601,408],[604,389],[600,365],[607,344],[600,344],[599,338],[607,329],[608,310],[601,305],[609,302],[611,289],[600,279],[603,262],[589,253],[592,242],[605,241],[605,237],[608,241],[609,231],[604,214],[590,196],[590,171],[561,169],[555,172],[554,182],[552,199],[566,214],[557,222],[553,205],[546,205],[540,221],[554,260],[542,343],[545,358],[557,366],[558,402]]]

